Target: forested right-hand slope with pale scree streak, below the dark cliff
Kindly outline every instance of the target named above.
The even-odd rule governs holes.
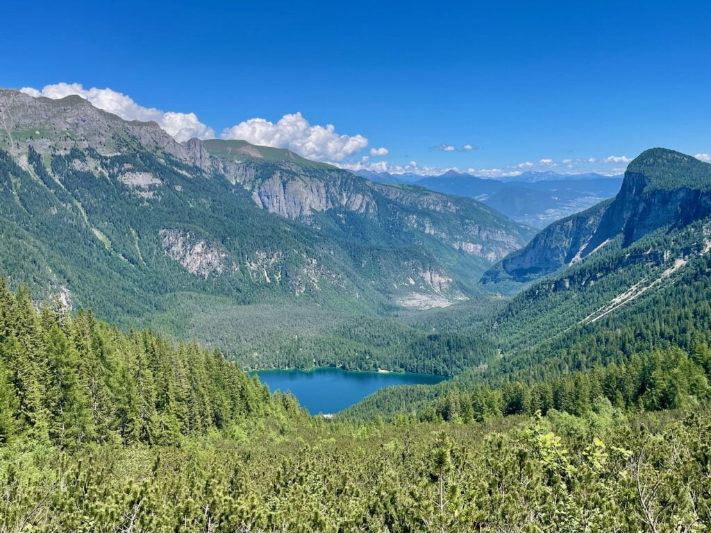
[[[710,392],[709,249],[705,244],[649,277],[645,267],[631,266],[631,278],[618,272],[592,288],[565,288],[563,278],[557,289],[539,282],[491,320],[461,332],[481,335],[496,355],[434,387],[384,389],[339,416],[579,413],[601,394],[623,408],[693,404]],[[635,274],[643,283],[625,289]]]

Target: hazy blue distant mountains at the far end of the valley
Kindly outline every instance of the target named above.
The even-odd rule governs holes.
[[[356,174],[371,181],[412,181],[441,193],[475,198],[513,220],[538,228],[611,198],[622,183],[622,176],[554,171],[531,171],[497,179],[457,171],[424,177],[363,171]]]

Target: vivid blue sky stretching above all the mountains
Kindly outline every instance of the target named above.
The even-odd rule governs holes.
[[[117,109],[137,117],[196,114],[171,116],[187,121],[185,134],[483,175],[611,172],[651,146],[711,154],[706,1],[36,1],[3,11],[13,23],[0,85],[121,93],[140,108]],[[257,117],[268,122],[247,122]]]

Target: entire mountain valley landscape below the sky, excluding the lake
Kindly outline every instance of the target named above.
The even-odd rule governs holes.
[[[80,97],[0,112],[1,527],[632,532],[660,476],[659,523],[705,523],[711,164],[644,151],[537,233],[516,198],[614,178],[381,183]],[[268,367],[436,384],[310,416]]]

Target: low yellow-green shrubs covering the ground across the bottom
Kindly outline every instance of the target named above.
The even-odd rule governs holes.
[[[601,402],[505,424],[14,443],[0,448],[0,530],[704,532],[710,441],[705,408],[628,418]]]

